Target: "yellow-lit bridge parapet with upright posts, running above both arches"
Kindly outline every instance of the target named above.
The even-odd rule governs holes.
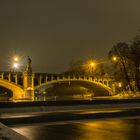
[[[91,82],[99,82],[107,86],[111,86],[113,77],[105,75],[91,76],[91,75],[70,75],[70,74],[48,74],[48,73],[28,73],[28,72],[10,72],[1,71],[0,79],[8,80],[11,83],[22,86],[24,89],[32,88],[34,86],[42,85],[50,81],[62,81],[62,80],[85,80]]]

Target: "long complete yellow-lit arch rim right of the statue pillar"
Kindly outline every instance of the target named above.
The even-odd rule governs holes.
[[[37,89],[40,89],[42,87],[47,87],[48,85],[51,85],[51,84],[55,84],[55,83],[61,83],[61,82],[88,82],[88,83],[91,83],[93,84],[93,86],[97,86],[99,88],[101,88],[102,90],[108,92],[109,95],[112,95],[112,89],[105,85],[105,84],[102,84],[101,82],[96,82],[96,81],[89,81],[89,80],[84,80],[84,79],[62,79],[62,80],[53,80],[53,81],[48,81],[46,83],[43,83],[41,85],[38,85],[35,87],[35,90]]]

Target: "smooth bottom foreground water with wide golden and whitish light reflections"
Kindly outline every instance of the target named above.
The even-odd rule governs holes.
[[[13,127],[31,140],[140,140],[140,119]]]

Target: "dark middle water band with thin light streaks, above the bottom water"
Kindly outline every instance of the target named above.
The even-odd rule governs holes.
[[[10,115],[9,115],[10,116]],[[98,120],[119,117],[140,116],[140,109],[116,109],[116,110],[86,110],[86,111],[67,111],[50,113],[30,113],[30,114],[12,114],[10,117],[3,116],[0,121],[6,125],[22,125],[32,123],[53,123],[67,121]]]

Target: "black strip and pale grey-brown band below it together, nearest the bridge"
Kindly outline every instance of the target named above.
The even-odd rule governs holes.
[[[29,112],[65,112],[79,110],[132,109],[140,107],[140,99],[113,99],[92,101],[3,102],[0,115]]]

